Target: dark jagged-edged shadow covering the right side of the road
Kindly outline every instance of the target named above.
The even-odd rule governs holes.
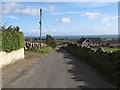
[[[64,49],[58,49],[57,52],[61,52],[63,57],[67,60],[65,64],[72,67],[67,72],[72,74],[71,79],[79,82],[80,85],[77,88],[113,88],[111,84],[106,83],[95,70],[89,67],[87,64],[69,54]]]

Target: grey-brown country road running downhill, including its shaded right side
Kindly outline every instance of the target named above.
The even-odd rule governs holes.
[[[3,88],[113,87],[65,50],[54,50],[45,57],[20,62],[3,69]]]

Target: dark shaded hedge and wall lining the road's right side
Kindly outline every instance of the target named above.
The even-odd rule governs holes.
[[[112,84],[120,88],[120,51],[113,53],[103,52],[101,48],[94,51],[91,48],[69,44],[66,49],[97,69],[108,78]]]

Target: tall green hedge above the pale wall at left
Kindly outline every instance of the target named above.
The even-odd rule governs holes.
[[[2,32],[2,39],[0,41],[2,51],[11,52],[24,47],[24,35],[18,26],[9,26],[8,28],[2,26],[0,27],[0,32]]]

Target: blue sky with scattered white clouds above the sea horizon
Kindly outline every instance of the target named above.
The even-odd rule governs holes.
[[[2,2],[2,25],[19,26],[25,36],[118,34],[117,2]]]

